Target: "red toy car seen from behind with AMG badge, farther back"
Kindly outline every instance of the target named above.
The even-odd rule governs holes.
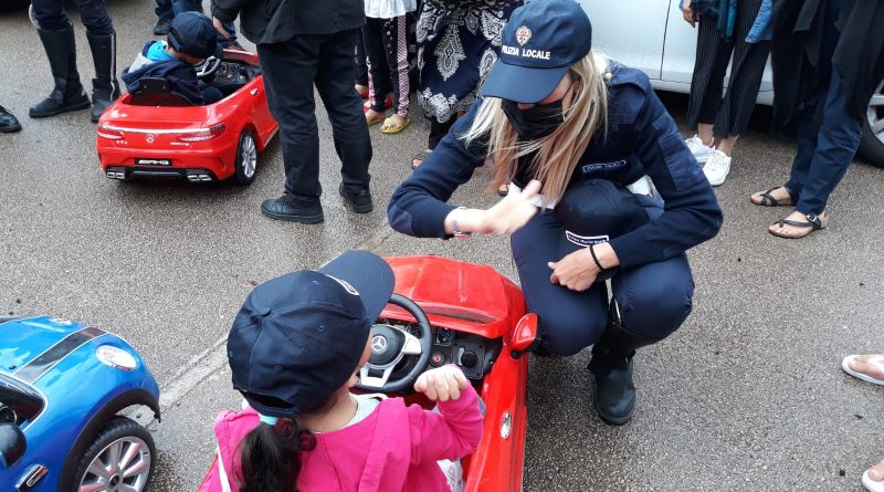
[[[164,78],[143,78],[139,91],[124,94],[102,115],[97,150],[108,178],[254,180],[257,153],[277,130],[257,55],[225,50],[224,60],[209,59],[197,70],[223,100],[192,106]]]

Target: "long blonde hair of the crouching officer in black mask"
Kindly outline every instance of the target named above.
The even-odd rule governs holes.
[[[537,155],[527,166],[535,179],[544,184],[545,200],[558,201],[561,198],[577,160],[598,129],[602,127],[602,137],[607,135],[608,87],[602,77],[607,66],[608,60],[591,51],[571,65],[571,103],[565,108],[565,123],[552,134],[536,140],[517,142],[518,136],[501,108],[501,100],[486,97],[483,101],[463,138],[470,145],[476,138],[488,135],[487,157],[493,163],[488,190],[508,182],[516,174],[518,158],[536,151]]]

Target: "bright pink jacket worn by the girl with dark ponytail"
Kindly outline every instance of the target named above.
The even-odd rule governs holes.
[[[473,452],[482,438],[478,396],[472,386],[455,401],[440,401],[440,414],[402,398],[381,401],[365,420],[334,432],[317,433],[316,447],[302,451],[299,492],[449,492],[436,461]],[[214,423],[219,453],[199,492],[239,492],[239,447],[257,426],[257,414],[222,411]]]

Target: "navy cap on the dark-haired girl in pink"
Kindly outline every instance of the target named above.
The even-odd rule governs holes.
[[[316,410],[356,371],[394,284],[383,259],[350,251],[259,285],[228,336],[233,388],[262,415]]]

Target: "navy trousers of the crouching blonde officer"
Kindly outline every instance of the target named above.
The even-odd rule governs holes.
[[[652,219],[663,212],[655,199],[639,199]],[[597,282],[576,292],[549,281],[552,271],[547,263],[561,259],[558,249],[564,233],[561,223],[547,210],[516,231],[511,242],[528,311],[539,320],[544,348],[550,354],[573,355],[604,333],[608,289],[604,282]],[[663,339],[691,314],[694,278],[684,253],[621,270],[611,279],[611,287],[623,327],[638,335]]]

